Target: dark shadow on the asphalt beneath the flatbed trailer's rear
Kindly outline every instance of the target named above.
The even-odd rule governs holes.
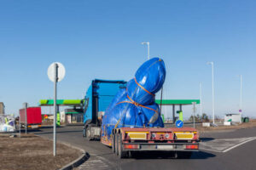
[[[132,158],[135,159],[208,159],[210,157],[215,157],[216,155],[212,153],[208,153],[205,151],[193,152],[190,158],[183,157],[180,154],[177,158],[175,158],[174,152],[169,151],[147,151],[147,152],[134,152],[132,153]]]

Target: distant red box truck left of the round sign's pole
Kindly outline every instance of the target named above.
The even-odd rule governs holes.
[[[38,128],[42,124],[41,107],[27,107],[20,109],[21,127]]]

